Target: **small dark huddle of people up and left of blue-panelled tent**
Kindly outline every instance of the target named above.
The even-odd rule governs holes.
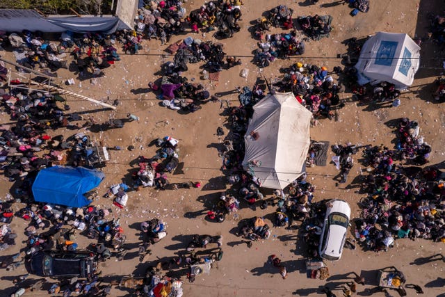
[[[321,38],[329,37],[332,31],[332,17],[330,15],[314,15],[313,17],[298,17],[302,31],[312,38],[312,40],[321,40]]]

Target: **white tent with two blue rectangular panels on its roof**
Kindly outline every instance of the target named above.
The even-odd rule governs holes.
[[[357,68],[358,83],[394,83],[405,89],[419,70],[420,47],[405,33],[379,32],[366,40]]]

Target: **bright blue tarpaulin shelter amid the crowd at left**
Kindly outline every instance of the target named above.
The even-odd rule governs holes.
[[[83,167],[54,166],[38,172],[32,186],[34,200],[84,207],[90,204],[83,194],[99,186],[105,175],[99,170]]]

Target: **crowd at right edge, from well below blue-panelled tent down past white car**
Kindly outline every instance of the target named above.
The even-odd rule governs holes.
[[[402,118],[396,128],[396,150],[383,145],[364,150],[366,165],[373,170],[362,184],[369,197],[362,201],[356,236],[375,250],[391,246],[393,236],[445,241],[442,172],[434,166],[409,166],[425,164],[431,152],[417,122]]]

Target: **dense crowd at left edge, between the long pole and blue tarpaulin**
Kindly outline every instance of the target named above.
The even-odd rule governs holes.
[[[3,90],[1,104],[10,113],[13,125],[0,127],[0,155],[4,174],[11,181],[23,179],[31,172],[62,162],[63,136],[51,137],[49,129],[70,126],[70,117],[64,114],[69,109],[64,99],[49,93],[24,91],[10,88]],[[63,101],[61,101],[61,100]],[[47,151],[44,154],[38,152]]]

